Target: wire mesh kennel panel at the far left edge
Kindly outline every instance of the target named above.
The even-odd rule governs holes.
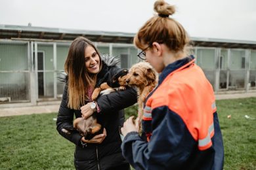
[[[30,101],[28,42],[0,42],[0,103]]]

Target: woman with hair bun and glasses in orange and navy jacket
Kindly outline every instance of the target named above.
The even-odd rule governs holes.
[[[156,1],[158,15],[135,36],[140,59],[158,73],[158,86],[145,103],[142,135],[139,120],[121,128],[123,156],[135,169],[223,169],[224,149],[213,88],[188,55],[190,39],[170,16],[175,7]]]

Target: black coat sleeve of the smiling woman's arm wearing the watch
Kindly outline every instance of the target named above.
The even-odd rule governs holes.
[[[110,69],[110,77],[114,76],[121,69],[118,67],[112,67]],[[107,95],[101,95],[96,100],[100,110],[104,112],[112,112],[116,110],[125,109],[135,103],[137,103],[137,91],[134,88],[127,88],[123,91],[112,92]]]

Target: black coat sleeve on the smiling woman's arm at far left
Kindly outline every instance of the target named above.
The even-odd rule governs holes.
[[[64,88],[64,93],[62,95],[62,101],[60,103],[60,109],[58,110],[58,117],[56,121],[56,129],[62,137],[68,139],[74,144],[81,144],[81,135],[73,128],[73,120],[74,120],[74,110],[69,109],[67,106],[67,86]],[[62,131],[62,129],[67,129],[70,131],[70,134],[66,134]]]

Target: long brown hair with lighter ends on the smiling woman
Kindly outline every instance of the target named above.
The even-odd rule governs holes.
[[[95,48],[100,58],[100,53],[93,42],[85,39],[85,37],[77,37],[70,45],[65,61],[65,72],[68,75],[68,107],[71,109],[79,109],[81,105],[85,105],[85,101],[89,99],[89,88],[94,88],[96,84],[96,74],[88,73],[85,67],[85,49],[87,46]],[[99,67],[101,70],[101,58]]]

